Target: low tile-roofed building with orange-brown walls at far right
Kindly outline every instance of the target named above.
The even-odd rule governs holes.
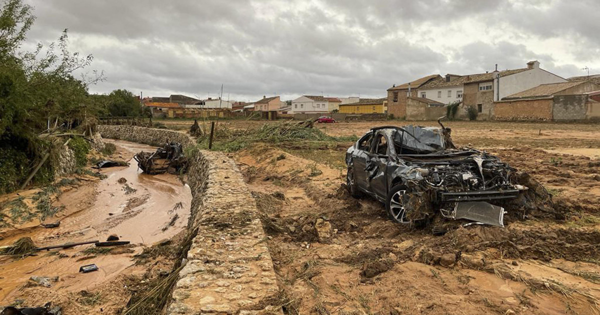
[[[590,118],[596,115],[593,114],[596,105],[591,104],[595,101],[590,98],[596,91],[600,91],[600,85],[590,81],[538,85],[494,102],[494,118],[555,121]]]

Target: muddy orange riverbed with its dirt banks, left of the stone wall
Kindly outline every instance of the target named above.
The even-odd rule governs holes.
[[[110,158],[128,161],[129,166],[102,169],[103,179],[74,176],[72,184],[52,197],[52,206],[60,209],[56,215],[3,227],[0,246],[25,236],[37,247],[106,241],[109,235],[131,244],[88,244],[38,251],[35,256],[0,256],[0,305],[35,307],[50,301],[60,305],[63,314],[118,314],[145,283],[172,271],[189,217],[190,188],[175,175],[141,173],[133,155],[155,148],[106,141],[117,148]],[[2,198],[33,196],[37,191],[17,191]],[[60,225],[55,228],[40,226],[57,221]],[[99,270],[79,272],[80,266],[91,263]],[[49,283],[36,283],[32,277],[47,277]]]

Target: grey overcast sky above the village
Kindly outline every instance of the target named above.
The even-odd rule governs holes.
[[[26,0],[28,44],[69,30],[106,80],[144,96],[384,97],[428,74],[600,73],[598,0]]]

